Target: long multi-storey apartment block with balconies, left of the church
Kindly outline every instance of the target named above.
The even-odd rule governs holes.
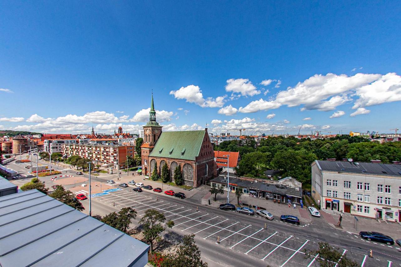
[[[89,158],[95,164],[109,166],[119,170],[124,168],[127,156],[134,157],[133,146],[101,145],[101,144],[64,144],[63,155]]]

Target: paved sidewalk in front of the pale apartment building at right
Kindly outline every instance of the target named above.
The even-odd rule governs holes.
[[[355,221],[353,215],[344,213],[342,216],[341,227],[336,227],[339,214],[327,212],[325,209],[320,210],[320,214],[326,219],[327,223],[335,228],[351,233],[358,234],[360,231],[374,231],[389,235],[394,240],[401,238],[401,225],[399,223],[379,223],[375,219],[356,216],[358,222]]]

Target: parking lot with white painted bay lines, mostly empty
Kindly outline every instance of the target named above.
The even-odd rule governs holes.
[[[115,188],[117,189],[117,188]],[[118,188],[120,189],[120,188]],[[127,188],[128,189],[128,188]],[[130,187],[132,190],[132,188]],[[167,219],[173,220],[176,231],[183,234],[192,233],[215,246],[224,246],[232,249],[233,253],[243,253],[245,257],[256,257],[261,260],[261,266],[296,266],[315,265],[314,259],[305,259],[304,250],[318,249],[318,241],[307,237],[288,233],[280,233],[264,227],[251,225],[186,206],[184,203],[174,203],[158,198],[157,194],[143,194],[129,192],[126,189],[106,192],[107,194],[94,196],[93,200],[113,205],[117,208],[132,207],[143,216],[148,209],[159,210]],[[174,198],[175,199],[175,198]],[[249,216],[243,214],[244,218]],[[339,248],[344,255],[354,259],[361,266],[391,266],[391,262],[379,256],[369,258],[366,253],[352,252],[349,248]],[[274,263],[274,264],[273,264]],[[393,265],[394,266],[394,265]],[[398,266],[398,265],[397,265]]]

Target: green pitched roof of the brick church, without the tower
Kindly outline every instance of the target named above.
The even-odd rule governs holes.
[[[163,131],[150,157],[195,160],[201,150],[205,130]]]

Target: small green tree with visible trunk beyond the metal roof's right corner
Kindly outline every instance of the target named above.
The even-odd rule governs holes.
[[[172,228],[174,226],[174,222],[172,220],[168,220],[163,226],[161,223],[164,223],[165,221],[166,217],[164,214],[153,209],[146,210],[144,216],[139,221],[139,224],[142,226],[144,239],[150,245],[151,253],[153,253],[153,241],[160,241],[160,233],[166,230],[167,227]]]

